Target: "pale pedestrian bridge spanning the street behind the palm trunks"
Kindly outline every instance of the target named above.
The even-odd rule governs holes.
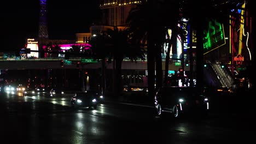
[[[0,59],[0,69],[98,69],[101,68],[102,62],[82,63],[81,58],[68,59],[68,63],[61,67],[63,58],[37,58],[37,59]],[[77,65],[77,62],[80,62]],[[107,69],[113,69],[113,63],[106,62]],[[178,70],[181,66],[174,63],[169,64],[170,70]],[[122,69],[147,70],[147,61],[129,61],[124,60]],[[165,62],[162,62],[162,69],[165,69]],[[185,67],[184,70],[188,70]]]

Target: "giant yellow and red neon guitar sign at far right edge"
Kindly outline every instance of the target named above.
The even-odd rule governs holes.
[[[252,61],[252,19],[246,10],[246,3],[236,14],[230,16],[230,63],[243,67]]]

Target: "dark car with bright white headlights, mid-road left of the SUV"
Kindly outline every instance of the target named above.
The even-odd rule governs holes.
[[[76,92],[71,98],[71,106],[73,107],[89,107],[89,109],[97,109],[97,95],[94,91]]]

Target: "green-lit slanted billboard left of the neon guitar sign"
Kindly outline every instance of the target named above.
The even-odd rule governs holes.
[[[203,55],[226,44],[223,24],[216,20],[208,21],[208,29],[203,31]]]

